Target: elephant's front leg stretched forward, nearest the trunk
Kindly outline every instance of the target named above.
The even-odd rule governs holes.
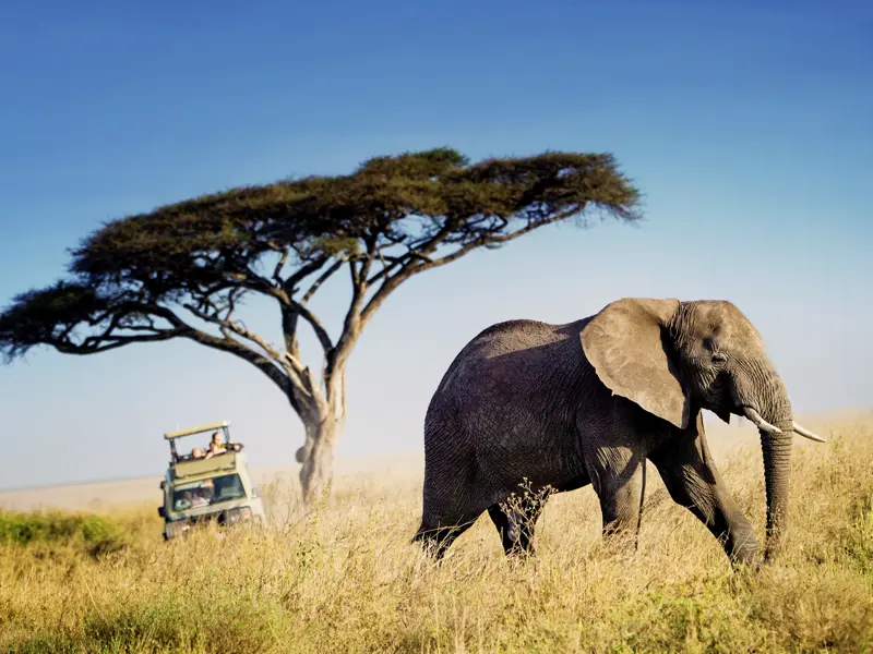
[[[696,428],[674,437],[649,458],[673,500],[709,529],[731,561],[752,562],[757,552],[754,529],[716,469],[699,416]]]

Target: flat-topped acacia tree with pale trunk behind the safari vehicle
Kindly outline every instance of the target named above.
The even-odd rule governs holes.
[[[638,219],[638,192],[609,154],[546,153],[470,165],[438,148],[376,157],[350,174],[203,195],[109,221],[72,251],[70,277],[0,314],[7,362],[35,346],[67,354],[183,338],[249,362],[282,390],[306,429],[297,451],[307,501],[331,481],[346,417],[345,371],[362,329],[404,281],[474,250],[600,209]],[[345,270],[336,338],[310,300]],[[275,302],[284,343],[239,319],[241,300]],[[303,364],[298,330],[321,346]]]

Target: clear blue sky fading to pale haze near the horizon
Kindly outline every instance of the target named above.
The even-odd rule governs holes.
[[[352,355],[339,456],[420,449],[488,325],[626,295],[732,300],[799,412],[873,403],[870,5],[412,4],[2,3],[0,303],[103,221],[191,195],[441,145],[608,150],[645,221],[543,229],[402,287]],[[345,291],[314,305],[334,330]],[[250,320],[275,338],[267,307]],[[35,351],[0,367],[0,487],[159,475],[163,432],[224,417],[255,464],[302,440],[266,378],[190,343]]]

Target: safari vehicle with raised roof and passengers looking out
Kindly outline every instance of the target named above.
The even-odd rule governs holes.
[[[157,508],[164,518],[164,540],[169,541],[198,523],[216,521],[222,525],[238,522],[263,524],[264,506],[258,486],[249,474],[242,444],[231,443],[227,421],[164,434],[170,444],[170,463],[160,489],[164,505]],[[179,438],[218,432],[224,435],[225,451],[206,457],[194,447],[180,455]]]

